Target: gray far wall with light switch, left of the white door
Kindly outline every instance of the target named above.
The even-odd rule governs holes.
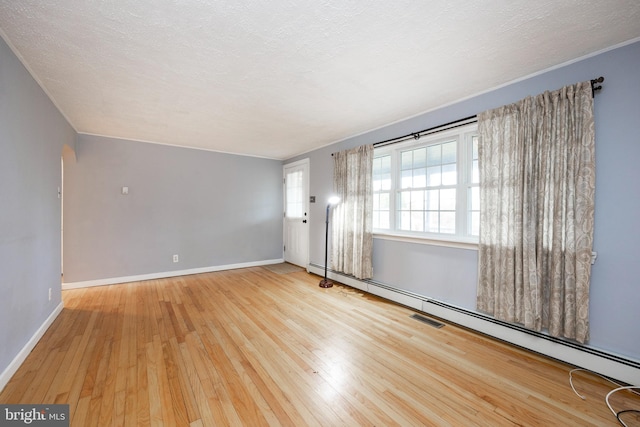
[[[281,161],[84,134],[76,158],[65,283],[282,258]]]

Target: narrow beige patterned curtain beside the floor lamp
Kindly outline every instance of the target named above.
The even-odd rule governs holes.
[[[373,277],[373,145],[333,154],[331,268],[358,279]]]

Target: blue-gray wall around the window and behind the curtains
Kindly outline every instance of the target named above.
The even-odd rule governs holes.
[[[604,76],[595,98],[596,212],[589,345],[640,361],[640,42],[287,160],[310,159],[312,263],[324,265],[331,153],[406,135]],[[460,82],[464,84],[464,81]],[[425,97],[429,94],[425,93]],[[374,239],[374,280],[475,310],[477,251]]]

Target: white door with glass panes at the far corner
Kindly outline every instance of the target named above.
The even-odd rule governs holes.
[[[284,260],[309,264],[309,159],[284,165]]]

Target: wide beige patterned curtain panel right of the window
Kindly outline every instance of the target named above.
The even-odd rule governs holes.
[[[595,137],[591,82],[478,115],[478,310],[589,339]]]

